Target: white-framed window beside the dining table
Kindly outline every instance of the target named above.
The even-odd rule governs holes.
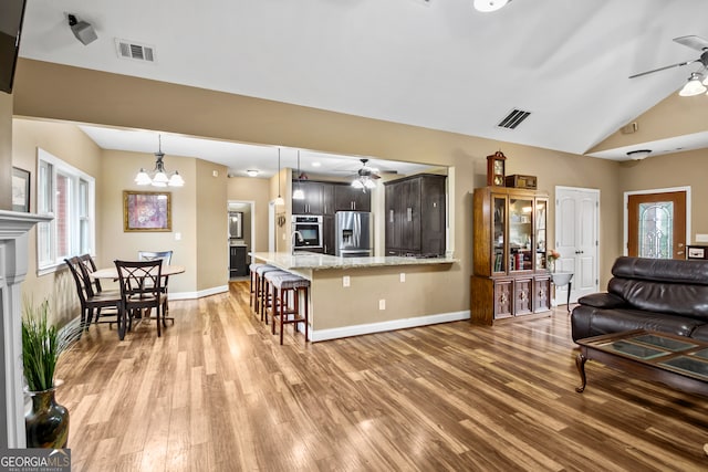
[[[43,149],[38,149],[37,212],[54,219],[37,225],[40,274],[52,272],[64,258],[94,254],[94,178]]]

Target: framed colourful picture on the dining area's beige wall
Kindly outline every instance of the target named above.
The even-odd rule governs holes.
[[[171,195],[123,190],[123,231],[171,231]]]

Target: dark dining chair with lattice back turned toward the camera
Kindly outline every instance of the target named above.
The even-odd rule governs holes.
[[[157,336],[159,337],[162,335],[160,324],[163,327],[167,327],[167,295],[163,291],[162,259],[152,261],[116,260],[114,263],[121,285],[121,317],[123,323],[127,323],[127,331],[132,329],[133,317],[136,317],[138,313],[142,316],[143,311],[150,313],[155,308]],[[173,324],[175,323],[174,318],[169,319]]]

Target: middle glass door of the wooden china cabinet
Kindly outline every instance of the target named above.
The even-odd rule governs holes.
[[[509,271],[533,270],[532,216],[532,199],[509,199]]]

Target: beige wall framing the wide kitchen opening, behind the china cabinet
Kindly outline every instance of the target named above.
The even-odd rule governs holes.
[[[621,253],[616,162],[28,60],[20,61],[14,93],[15,113],[22,115],[451,166],[451,241],[461,263],[454,277],[430,277],[429,283],[433,303],[440,306],[449,305],[449,293],[458,295],[454,311],[469,308],[471,192],[485,185],[486,156],[496,150],[508,156],[508,174],[538,176],[540,189],[551,197],[559,185],[601,190],[601,284]],[[281,185],[287,197],[290,178]],[[277,187],[271,179],[271,199]]]

